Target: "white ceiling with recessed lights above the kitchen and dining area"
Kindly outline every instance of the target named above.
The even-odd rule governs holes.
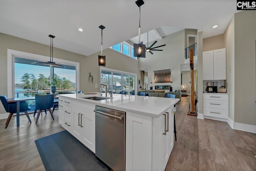
[[[235,0],[144,0],[141,32],[169,26],[222,34],[236,10]],[[89,56],[138,36],[135,0],[0,0],[0,32]],[[212,29],[212,26],[219,25]],[[84,31],[79,32],[78,28]]]

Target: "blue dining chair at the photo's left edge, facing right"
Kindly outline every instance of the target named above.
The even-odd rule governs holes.
[[[8,116],[8,119],[6,121],[6,124],[5,124],[5,128],[7,128],[8,125],[9,125],[10,120],[12,119],[12,115],[17,112],[17,103],[16,102],[8,103],[7,102],[8,98],[6,97],[6,95],[0,95],[0,99],[2,101],[2,104],[4,106],[5,111],[7,113],[10,113],[9,116]],[[30,109],[31,108],[28,106],[28,103],[26,103],[26,101],[20,101],[20,111],[25,112],[29,122],[31,123],[30,117],[29,117],[28,112],[27,112]]]

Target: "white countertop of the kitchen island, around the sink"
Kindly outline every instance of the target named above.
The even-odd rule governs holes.
[[[151,117],[159,117],[176,104],[180,99],[164,98],[164,97],[150,97],[150,96],[140,96],[140,95],[125,95],[125,94],[113,94],[113,97],[106,100],[90,100],[84,99],[82,97],[100,97],[100,93],[97,94],[60,94],[61,97],[67,97],[71,99],[76,99],[79,101],[84,101],[87,103],[92,103],[102,107],[108,107],[112,109],[117,109],[121,111],[130,111],[134,113],[139,113],[142,115],[148,115]],[[102,94],[102,97],[105,93]],[[108,97],[110,95],[108,94]]]

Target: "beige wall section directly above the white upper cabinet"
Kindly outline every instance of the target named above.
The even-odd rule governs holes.
[[[203,52],[224,48],[224,34],[203,39]]]

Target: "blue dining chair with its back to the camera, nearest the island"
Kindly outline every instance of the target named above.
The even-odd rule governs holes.
[[[36,95],[35,97],[36,100],[36,109],[39,110],[37,117],[36,117],[36,123],[38,122],[40,113],[42,110],[48,109],[52,119],[54,120],[53,114],[51,107],[53,107],[53,102],[54,102],[54,94],[47,94],[47,95]]]

